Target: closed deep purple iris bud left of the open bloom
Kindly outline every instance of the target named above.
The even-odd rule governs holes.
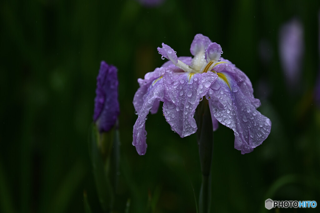
[[[119,112],[117,68],[101,61],[93,114],[100,133],[115,125]]]

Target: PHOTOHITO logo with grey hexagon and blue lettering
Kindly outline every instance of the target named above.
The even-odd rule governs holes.
[[[266,200],[266,209],[272,208],[316,208],[316,201],[273,201]]]

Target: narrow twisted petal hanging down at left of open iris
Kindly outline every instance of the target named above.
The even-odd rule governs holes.
[[[163,99],[164,83],[161,79],[158,82],[156,82],[156,84],[151,88],[139,112],[138,119],[133,126],[132,145],[136,147],[136,150],[139,155],[144,155],[147,151],[146,117],[149,113],[149,110],[154,106],[154,103],[156,101],[163,101]]]

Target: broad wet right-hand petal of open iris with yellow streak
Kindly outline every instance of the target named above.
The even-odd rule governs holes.
[[[268,137],[271,121],[256,110],[232,75],[217,74],[219,77],[208,92],[211,113],[234,131],[235,148],[241,154],[249,153]]]

